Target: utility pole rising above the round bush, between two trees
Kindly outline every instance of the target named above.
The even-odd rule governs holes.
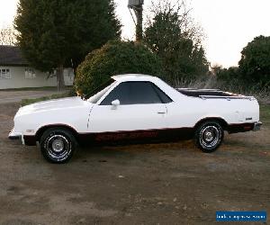
[[[129,0],[129,4],[128,7],[130,10],[133,10],[136,18],[137,18],[137,22],[135,22],[133,14],[130,14],[132,16],[133,22],[136,25],[136,41],[141,41],[142,40],[142,5],[144,4],[144,0]]]

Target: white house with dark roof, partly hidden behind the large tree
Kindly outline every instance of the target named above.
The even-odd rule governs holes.
[[[65,85],[73,85],[72,68],[64,69]],[[0,89],[57,86],[55,74],[43,73],[30,66],[19,47],[0,46]]]

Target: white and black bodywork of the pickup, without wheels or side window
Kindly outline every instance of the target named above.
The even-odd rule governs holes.
[[[229,132],[259,129],[259,105],[254,97],[189,96],[180,93],[156,76],[112,76],[112,85],[102,91],[96,103],[91,98],[70,97],[33,103],[19,109],[14,117],[10,139],[20,137],[23,144],[35,145],[41,132],[50,127],[65,127],[76,133],[79,140],[118,140],[179,136],[193,133],[200,121],[217,119]],[[102,105],[112,90],[124,82],[150,82],[172,101],[170,103]]]

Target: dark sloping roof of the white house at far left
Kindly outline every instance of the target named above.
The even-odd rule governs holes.
[[[22,51],[17,46],[0,45],[0,66],[26,66],[29,65],[23,58]]]

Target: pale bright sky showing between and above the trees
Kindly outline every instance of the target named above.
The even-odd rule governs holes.
[[[128,0],[114,0],[122,38],[134,39]],[[147,10],[151,2],[145,0]],[[211,65],[237,66],[241,50],[258,35],[270,36],[270,0],[186,0],[205,34],[203,47]],[[0,27],[13,23],[18,0],[0,0]],[[147,12],[147,11],[146,11]]]

